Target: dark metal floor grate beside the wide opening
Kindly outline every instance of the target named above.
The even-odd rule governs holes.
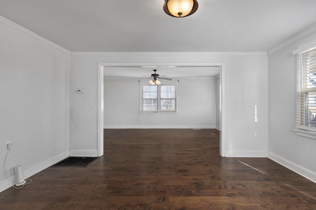
[[[87,167],[97,157],[67,157],[51,167]]]

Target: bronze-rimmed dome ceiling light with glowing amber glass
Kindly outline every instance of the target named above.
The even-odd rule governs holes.
[[[197,0],[164,0],[163,11],[172,17],[183,18],[197,11]]]

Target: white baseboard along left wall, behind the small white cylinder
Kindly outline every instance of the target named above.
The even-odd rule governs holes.
[[[48,168],[51,165],[54,165],[55,163],[65,159],[68,156],[69,156],[69,151],[68,150],[64,151],[63,153],[58,154],[55,157],[49,158],[48,160],[45,160],[36,166],[33,166],[29,169],[24,170],[23,175],[26,178],[32,177],[33,175],[39,173],[40,171]],[[13,186],[14,184],[15,184],[15,175],[13,175],[5,180],[0,181],[0,192]]]

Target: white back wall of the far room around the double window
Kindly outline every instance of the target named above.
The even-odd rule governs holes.
[[[141,81],[141,83],[144,82],[147,81]],[[139,114],[140,83],[138,79],[106,78],[104,80],[104,127],[215,128],[215,78],[173,78],[173,81],[161,82],[177,84],[177,114]]]

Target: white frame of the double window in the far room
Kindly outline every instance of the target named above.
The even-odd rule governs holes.
[[[139,113],[140,114],[177,114],[178,113],[178,85],[176,83],[165,83],[157,86],[157,111],[143,111],[143,86],[152,86],[148,83],[139,84]],[[160,100],[163,99],[160,97],[160,87],[162,86],[175,86],[175,110],[161,110],[160,109]]]

